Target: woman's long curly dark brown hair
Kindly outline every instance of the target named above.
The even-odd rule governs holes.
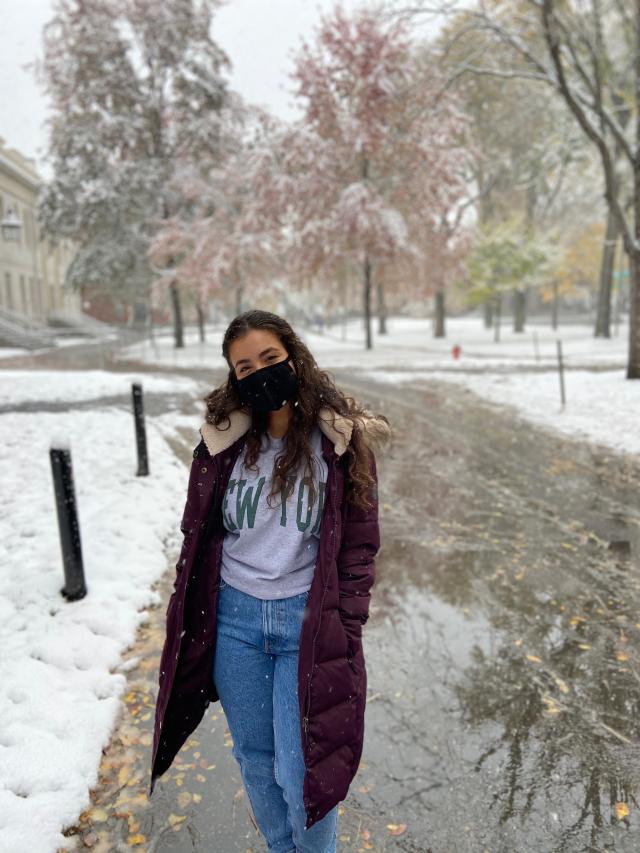
[[[340,457],[347,474],[347,500],[361,509],[370,507],[368,493],[375,485],[370,471],[370,442],[366,440],[362,419],[374,418],[377,422],[376,440],[384,444],[390,437],[389,421],[384,415],[374,414],[361,406],[353,397],[347,396],[337,388],[329,373],[321,370],[306,344],[298,337],[289,323],[270,311],[253,309],[235,317],[222,341],[222,354],[229,366],[227,381],[203,398],[206,403],[205,419],[207,423],[218,427],[225,420],[229,422],[229,412],[244,409],[244,405],[234,388],[231,376],[234,367],[229,355],[231,342],[242,337],[252,329],[265,329],[277,335],[280,343],[289,352],[296,365],[298,392],[293,406],[291,420],[285,434],[284,453],[275,460],[274,474],[268,500],[277,493],[291,494],[295,471],[301,459],[305,460],[305,476],[311,473],[312,450],[309,436],[317,422],[319,410],[327,406],[339,415],[353,420],[351,440],[345,453]],[[261,446],[262,436],[267,430],[268,413],[251,410],[252,423],[246,438],[244,462],[247,468],[255,468]],[[225,427],[228,429],[228,426]],[[291,476],[291,473],[294,476]],[[310,500],[315,501],[313,477],[309,477]]]

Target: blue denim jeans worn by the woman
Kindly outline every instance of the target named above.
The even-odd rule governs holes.
[[[221,580],[213,679],[269,853],[335,853],[338,807],[305,829],[298,651],[308,591],[263,600]]]

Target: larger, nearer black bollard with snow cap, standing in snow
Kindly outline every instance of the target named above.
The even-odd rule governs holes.
[[[60,592],[68,601],[76,601],[85,597],[87,587],[84,582],[80,527],[73,488],[73,470],[71,468],[71,451],[60,447],[51,447],[49,448],[49,457],[51,459],[51,473],[53,474],[53,488],[56,495],[58,528],[64,566],[64,586]]]

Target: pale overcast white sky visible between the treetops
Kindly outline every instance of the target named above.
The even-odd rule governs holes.
[[[54,5],[54,0],[5,2],[0,25],[0,136],[9,147],[34,157],[45,179],[50,177],[44,162],[47,102],[24,65],[41,55],[42,27]],[[212,35],[233,63],[232,88],[281,118],[296,116],[287,76],[291,55],[333,5],[334,0],[227,0]],[[345,9],[359,5],[359,0],[343,0]]]

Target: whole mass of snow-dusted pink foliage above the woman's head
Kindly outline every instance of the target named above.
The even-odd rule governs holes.
[[[405,24],[338,4],[295,58],[302,117],[247,108],[214,166],[186,172],[194,215],[169,223],[158,257],[199,297],[274,276],[331,281],[345,263],[400,263],[418,292],[443,287],[464,253],[466,119]],[[440,274],[433,275],[438,264]],[[436,280],[437,279],[437,280]]]

